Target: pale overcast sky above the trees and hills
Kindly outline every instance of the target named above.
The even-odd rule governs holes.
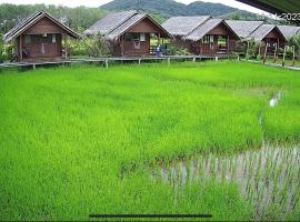
[[[34,4],[34,3],[46,3],[46,4],[62,4],[67,7],[78,7],[78,6],[86,6],[86,7],[100,7],[101,4],[104,4],[107,2],[110,2],[112,0],[0,0],[0,3],[14,3],[14,4]],[[153,0],[156,1],[156,0]],[[190,3],[196,0],[176,0],[182,3]],[[238,9],[243,9],[247,11],[256,12],[256,13],[262,13],[261,10],[258,10],[256,8],[249,7],[247,4],[237,2],[234,0],[202,0],[207,2],[214,2],[214,3],[223,3],[230,7],[234,7]]]

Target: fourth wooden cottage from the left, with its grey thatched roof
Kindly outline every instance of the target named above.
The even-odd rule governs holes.
[[[266,47],[267,53],[273,54],[279,48],[283,48],[287,38],[281,30],[274,24],[264,24],[263,21],[226,21],[228,26],[236,31],[244,42],[254,40],[259,42],[258,53],[264,54]]]

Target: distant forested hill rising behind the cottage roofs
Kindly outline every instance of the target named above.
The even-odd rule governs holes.
[[[138,4],[138,2],[140,2]],[[242,11],[221,3],[194,1],[190,4],[179,3],[173,0],[114,0],[100,7],[109,11],[122,11],[140,9],[149,13],[159,14],[162,18],[176,16],[212,16],[218,18],[230,18],[232,14],[248,19],[257,19],[257,14]]]

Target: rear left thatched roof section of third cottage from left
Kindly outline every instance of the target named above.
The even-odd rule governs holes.
[[[172,17],[162,27],[173,36],[188,36],[211,17]]]

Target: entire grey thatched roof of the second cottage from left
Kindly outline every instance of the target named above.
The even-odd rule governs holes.
[[[113,41],[144,19],[148,19],[156,26],[161,31],[162,37],[172,38],[172,36],[149,14],[140,14],[137,11],[123,11],[109,14],[86,30],[84,34],[102,34],[106,39]]]

